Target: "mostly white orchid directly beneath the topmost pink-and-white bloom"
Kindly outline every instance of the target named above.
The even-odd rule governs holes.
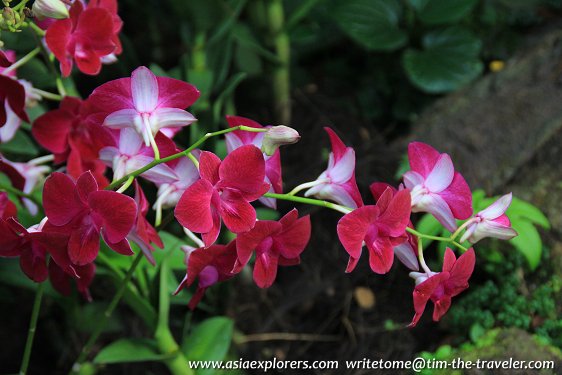
[[[161,146],[162,143],[166,142],[165,140],[168,139],[162,133],[156,135],[156,144],[159,145],[159,150],[165,147]],[[144,146],[142,138],[133,129],[122,129],[119,132],[117,143],[117,146],[107,146],[100,150],[100,160],[113,169],[113,180],[118,180],[154,160],[153,149]],[[149,169],[141,176],[150,180],[174,178],[170,168],[164,164]]]

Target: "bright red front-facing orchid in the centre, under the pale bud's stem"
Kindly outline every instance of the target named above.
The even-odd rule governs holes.
[[[202,233],[208,247],[220,232],[221,218],[234,233],[247,232],[256,223],[256,211],[249,202],[269,190],[264,182],[265,161],[255,146],[242,146],[224,161],[207,151],[201,153],[201,179],[188,187],[176,206],[179,223]]]

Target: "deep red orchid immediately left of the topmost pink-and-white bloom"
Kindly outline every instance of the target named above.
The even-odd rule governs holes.
[[[70,176],[78,178],[89,170],[104,187],[109,182],[99,152],[115,141],[108,129],[86,121],[88,108],[79,98],[65,96],[58,109],[34,121],[31,132],[41,146],[55,155],[55,163],[67,162]]]

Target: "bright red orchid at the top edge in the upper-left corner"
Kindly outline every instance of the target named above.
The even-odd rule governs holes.
[[[45,41],[59,60],[64,77],[70,75],[73,62],[81,72],[96,75],[102,59],[120,50],[116,35],[121,22],[115,18],[116,12],[108,9],[113,7],[117,7],[115,0],[93,1],[86,9],[81,1],[75,1],[70,7],[70,18],[49,26]]]

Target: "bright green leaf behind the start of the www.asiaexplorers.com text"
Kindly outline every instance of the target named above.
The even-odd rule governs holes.
[[[229,318],[207,319],[184,337],[181,349],[191,361],[221,361],[230,348],[233,328],[234,323]]]

